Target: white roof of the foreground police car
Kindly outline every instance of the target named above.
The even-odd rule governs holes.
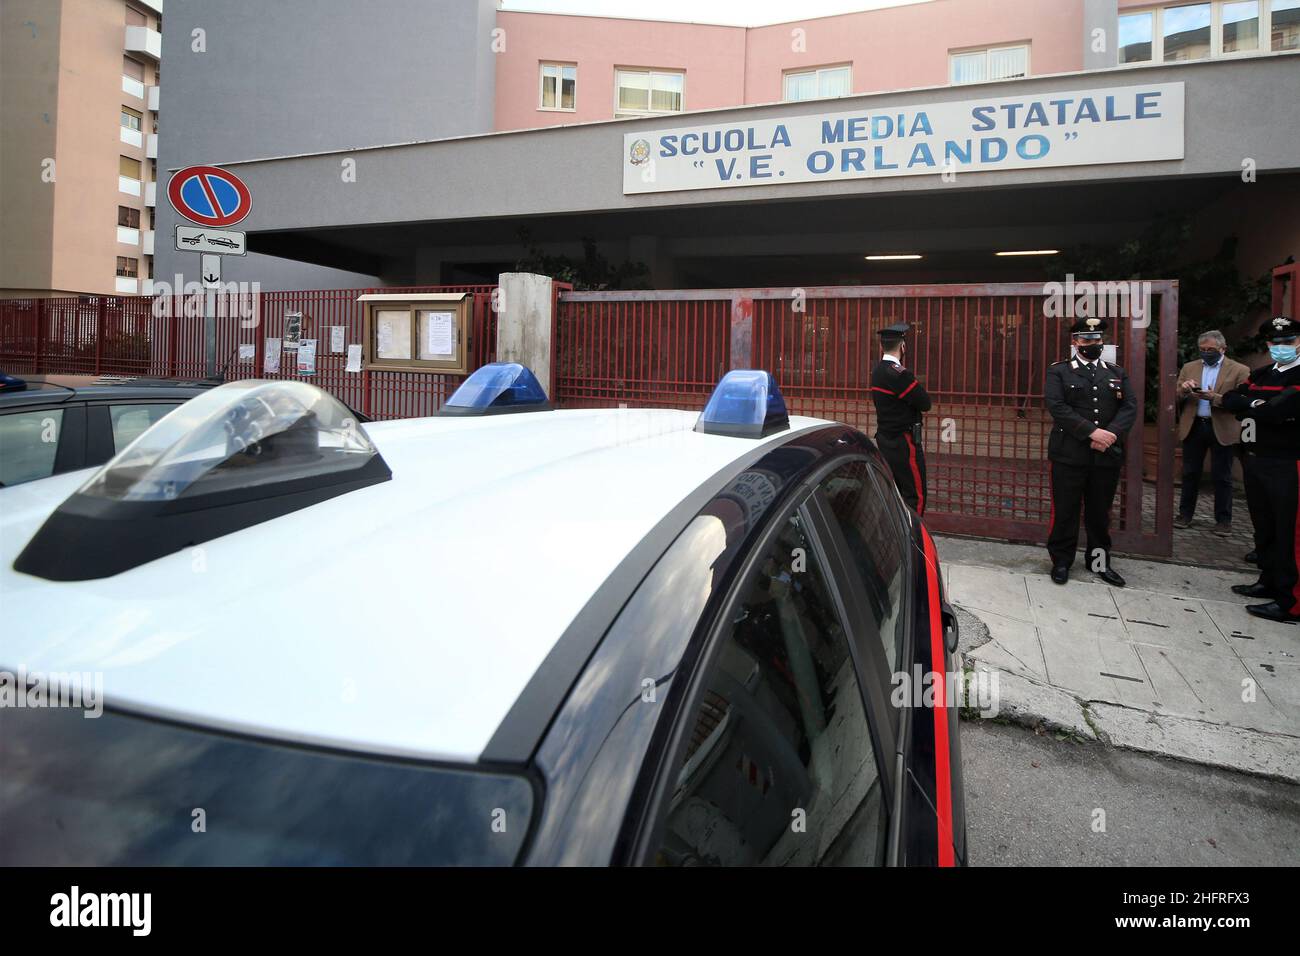
[[[763,440],[698,412],[365,425],[393,480],[112,578],[13,561],[91,472],[0,490],[0,670],[103,672],[110,706],[350,750],[474,761],[619,562]]]

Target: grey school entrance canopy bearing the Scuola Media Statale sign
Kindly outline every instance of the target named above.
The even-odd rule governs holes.
[[[521,230],[569,256],[589,238],[660,289],[1017,281],[1041,260],[996,252],[1118,243],[1170,215],[1210,251],[1238,235],[1253,276],[1300,252],[1296,88],[1300,56],[1275,55],[229,168],[254,195],[250,250],[389,284],[490,281]],[[887,254],[922,258],[864,260]]]

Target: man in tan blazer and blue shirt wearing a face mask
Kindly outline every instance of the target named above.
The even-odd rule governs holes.
[[[1244,382],[1251,369],[1225,354],[1227,342],[1221,332],[1202,332],[1196,342],[1201,358],[1188,362],[1178,373],[1178,438],[1183,442],[1183,493],[1178,503],[1175,528],[1186,528],[1196,514],[1196,497],[1210,453],[1214,476],[1214,533],[1232,528],[1232,454],[1242,441],[1242,423],[1221,407],[1222,397]]]

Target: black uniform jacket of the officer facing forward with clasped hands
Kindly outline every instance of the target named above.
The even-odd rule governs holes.
[[[1048,367],[1043,397],[1054,423],[1048,438],[1053,462],[1115,468],[1124,463],[1124,436],[1138,420],[1138,397],[1124,369],[1100,359],[1096,365],[1093,378],[1078,358]],[[1089,436],[1098,428],[1119,438],[1106,451],[1092,450]]]

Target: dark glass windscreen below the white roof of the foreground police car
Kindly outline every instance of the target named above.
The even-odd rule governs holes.
[[[82,714],[0,708],[0,865],[500,866],[528,832],[521,777]]]

